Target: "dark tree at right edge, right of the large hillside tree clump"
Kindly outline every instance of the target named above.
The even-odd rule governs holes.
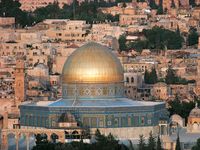
[[[188,45],[192,46],[192,45],[198,44],[198,40],[199,40],[199,35],[197,32],[197,29],[190,28],[188,39],[187,39]]]

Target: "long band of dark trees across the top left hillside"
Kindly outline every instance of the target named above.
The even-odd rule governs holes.
[[[104,14],[98,10],[100,7],[115,6],[116,3],[107,3],[101,1],[84,1],[80,5],[77,0],[71,5],[64,5],[63,8],[58,6],[57,2],[41,7],[33,12],[25,12],[20,9],[21,4],[13,0],[1,0],[0,16],[15,17],[16,23],[24,26],[31,26],[34,23],[43,21],[44,19],[79,19],[86,20],[89,23],[94,21],[119,21],[119,15],[112,16]]]

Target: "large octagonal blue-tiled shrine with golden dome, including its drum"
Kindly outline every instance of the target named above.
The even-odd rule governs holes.
[[[20,106],[22,128],[67,128],[60,118],[70,113],[76,128],[97,128],[119,139],[159,133],[159,120],[166,118],[163,102],[134,101],[124,97],[123,68],[106,47],[88,43],[74,51],[63,67],[62,98],[24,102]],[[62,119],[61,119],[62,120]],[[73,126],[74,127],[74,124]],[[164,129],[162,129],[164,130]]]

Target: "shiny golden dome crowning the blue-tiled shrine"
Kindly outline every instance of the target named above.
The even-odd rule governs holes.
[[[123,81],[123,68],[111,50],[89,42],[69,56],[62,75],[63,84],[116,83]]]

